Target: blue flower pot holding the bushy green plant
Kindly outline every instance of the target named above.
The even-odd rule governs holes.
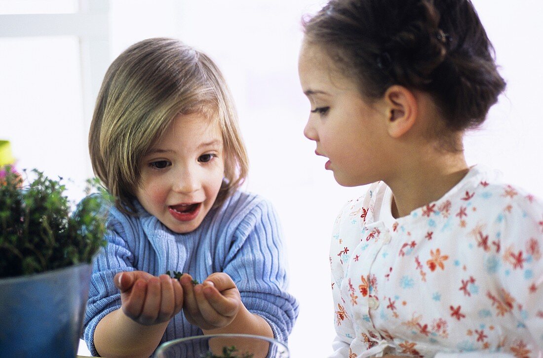
[[[92,265],[0,279],[0,357],[75,357]]]

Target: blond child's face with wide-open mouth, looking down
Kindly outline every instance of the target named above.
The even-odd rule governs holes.
[[[178,115],[141,162],[136,197],[175,233],[189,233],[210,211],[224,177],[223,140],[217,121]]]

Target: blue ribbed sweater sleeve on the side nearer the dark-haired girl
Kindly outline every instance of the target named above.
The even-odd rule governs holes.
[[[245,307],[287,342],[298,317],[298,302],[287,292],[282,232],[275,210],[262,200],[238,225],[223,272],[236,282]]]

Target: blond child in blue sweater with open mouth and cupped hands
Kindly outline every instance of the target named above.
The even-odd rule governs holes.
[[[298,304],[281,228],[267,200],[239,190],[247,154],[208,56],[174,39],[130,46],[105,75],[89,147],[114,198],[84,320],[92,354],[149,356],[216,333],[287,341]]]

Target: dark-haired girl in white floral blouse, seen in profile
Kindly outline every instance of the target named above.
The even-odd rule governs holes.
[[[469,0],[332,0],[304,22],[304,134],[340,185],[337,357],[543,354],[543,202],[468,166],[506,84]]]

